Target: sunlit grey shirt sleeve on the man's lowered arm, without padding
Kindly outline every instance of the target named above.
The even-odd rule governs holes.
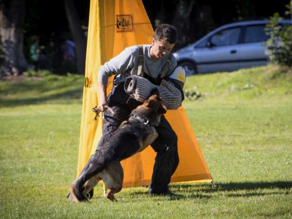
[[[133,46],[125,48],[120,54],[100,66],[98,71],[98,82],[108,83],[112,74],[122,74],[134,66]]]

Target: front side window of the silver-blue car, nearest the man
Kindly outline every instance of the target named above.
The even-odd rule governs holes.
[[[237,44],[240,34],[240,27],[230,28],[219,31],[211,37],[211,43],[213,45],[231,45]]]

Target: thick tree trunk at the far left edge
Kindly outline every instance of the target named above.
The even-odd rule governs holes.
[[[0,1],[0,37],[3,59],[0,75],[17,76],[27,68],[23,54],[25,0]]]

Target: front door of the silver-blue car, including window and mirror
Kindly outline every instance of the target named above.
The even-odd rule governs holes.
[[[199,72],[233,71],[240,67],[239,38],[241,26],[231,27],[214,33],[200,53],[197,66]]]

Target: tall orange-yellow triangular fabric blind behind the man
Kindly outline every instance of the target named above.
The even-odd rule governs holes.
[[[119,21],[119,22],[117,22]],[[122,21],[122,23],[120,22]],[[91,0],[83,91],[83,108],[77,175],[94,153],[102,136],[102,119],[91,109],[98,105],[97,74],[99,67],[119,54],[125,47],[150,44],[153,28],[141,0]],[[108,93],[112,88],[112,79]],[[168,110],[167,120],[179,138],[180,164],[171,182],[211,182],[212,176],[203,158],[200,146],[181,106]],[[148,147],[141,153],[122,161],[123,187],[149,185],[156,153]]]

